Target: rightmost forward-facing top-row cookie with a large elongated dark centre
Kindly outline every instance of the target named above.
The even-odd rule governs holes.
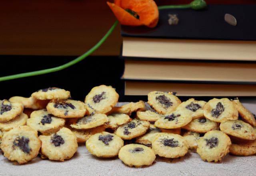
[[[238,110],[228,98],[214,98],[204,105],[204,117],[214,122],[238,119]]]

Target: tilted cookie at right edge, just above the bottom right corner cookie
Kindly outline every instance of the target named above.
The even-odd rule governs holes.
[[[228,120],[220,123],[220,130],[231,136],[246,140],[255,140],[256,130],[242,120]]]

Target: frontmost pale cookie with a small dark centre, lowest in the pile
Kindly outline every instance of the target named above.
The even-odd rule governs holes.
[[[140,167],[143,165],[150,166],[156,155],[154,151],[144,145],[141,144],[128,144],[121,148],[118,157],[124,164],[132,167]]]

